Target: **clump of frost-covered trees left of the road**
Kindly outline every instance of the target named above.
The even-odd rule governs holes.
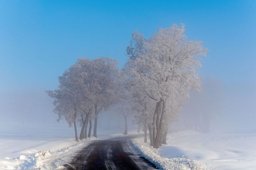
[[[74,123],[75,139],[77,137],[76,122],[81,122],[80,139],[91,135],[94,118],[93,136],[97,137],[98,114],[108,109],[115,102],[118,76],[117,61],[110,58],[80,58],[59,77],[59,89],[47,91],[54,98],[54,111],[68,121]]]

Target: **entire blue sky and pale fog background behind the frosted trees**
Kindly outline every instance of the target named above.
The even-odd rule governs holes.
[[[45,93],[57,88],[65,69],[77,58],[101,56],[117,58],[122,67],[134,30],[148,37],[184,23],[188,39],[202,40],[209,52],[199,69],[202,93],[191,92],[172,130],[255,133],[255,9],[255,1],[1,1],[1,131],[51,125],[73,132],[65,120],[57,123]],[[111,110],[99,115],[99,129],[123,124]]]

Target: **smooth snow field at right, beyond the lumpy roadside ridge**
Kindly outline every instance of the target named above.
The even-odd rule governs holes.
[[[218,170],[256,169],[255,134],[181,131],[169,133],[167,138],[168,145],[159,149],[165,157],[185,155]]]

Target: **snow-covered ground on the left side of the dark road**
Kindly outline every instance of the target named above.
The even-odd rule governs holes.
[[[79,149],[97,140],[76,142],[73,128],[66,124],[0,124],[0,129],[0,170],[63,169]],[[117,129],[98,130],[98,139],[122,135]]]

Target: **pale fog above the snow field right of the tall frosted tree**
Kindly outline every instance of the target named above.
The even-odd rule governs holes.
[[[224,84],[217,78],[203,78],[202,91],[191,92],[172,128],[255,133],[255,86],[255,83]]]

